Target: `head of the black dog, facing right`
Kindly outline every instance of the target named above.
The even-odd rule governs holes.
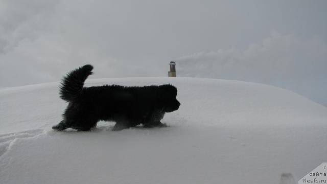
[[[159,86],[159,101],[165,112],[172,112],[179,108],[180,103],[176,99],[177,88],[170,84]]]

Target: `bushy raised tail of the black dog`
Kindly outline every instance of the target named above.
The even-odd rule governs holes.
[[[92,74],[92,69],[92,65],[86,64],[69,72],[61,81],[60,98],[66,102],[76,100],[83,89],[84,81]]]

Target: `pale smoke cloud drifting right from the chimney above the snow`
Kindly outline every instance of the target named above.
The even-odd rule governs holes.
[[[246,49],[201,52],[177,58],[177,75],[231,79],[290,89],[327,105],[327,43],[317,37],[272,33]]]

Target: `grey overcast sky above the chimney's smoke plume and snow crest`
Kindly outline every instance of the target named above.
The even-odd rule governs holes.
[[[325,0],[1,0],[0,87],[59,81],[86,63],[91,78],[167,76],[171,60],[272,34],[325,46],[326,18]]]

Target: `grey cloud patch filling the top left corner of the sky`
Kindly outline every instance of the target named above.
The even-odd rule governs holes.
[[[15,48],[21,40],[34,39],[47,27],[58,1],[1,1],[0,54]]]

